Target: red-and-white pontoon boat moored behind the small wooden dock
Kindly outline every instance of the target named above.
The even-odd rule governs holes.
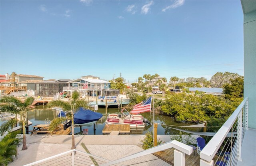
[[[126,113],[123,113],[123,111]],[[126,109],[122,114],[109,114],[105,123],[108,124],[129,124],[130,128],[145,128],[142,115],[130,115]]]

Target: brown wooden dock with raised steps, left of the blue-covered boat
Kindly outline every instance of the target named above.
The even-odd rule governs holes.
[[[66,130],[64,130],[64,124],[60,124],[55,130],[50,133],[49,131],[49,125],[48,124],[39,124],[36,126],[33,126],[35,128],[40,128],[40,130],[30,130],[31,135],[32,134],[52,134],[52,135],[69,135],[71,133],[70,127],[68,127]]]

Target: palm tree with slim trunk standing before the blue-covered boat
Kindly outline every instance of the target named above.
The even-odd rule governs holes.
[[[48,103],[47,107],[60,107],[63,111],[68,112],[71,114],[71,121],[72,121],[72,146],[71,149],[75,149],[75,136],[74,136],[74,114],[80,107],[87,108],[87,102],[84,99],[79,98],[80,94],[78,91],[74,91],[72,93],[70,101],[62,101],[62,100],[53,100]]]

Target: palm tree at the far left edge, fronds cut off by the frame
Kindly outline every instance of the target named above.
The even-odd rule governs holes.
[[[0,99],[0,113],[13,113],[20,115],[20,122],[22,123],[22,130],[23,130],[23,140],[22,140],[22,150],[28,149],[26,145],[26,113],[28,112],[30,106],[34,102],[33,97],[27,97],[24,102],[16,99],[12,96],[4,96]],[[3,104],[2,104],[3,103]],[[28,118],[28,117],[27,117]],[[3,135],[11,126],[17,123],[16,119],[11,119],[6,123],[2,124],[0,127],[0,134]]]

